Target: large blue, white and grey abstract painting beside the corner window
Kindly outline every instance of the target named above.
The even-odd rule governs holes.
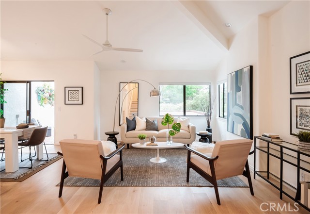
[[[227,80],[227,131],[248,139],[253,139],[252,72],[247,66]]]

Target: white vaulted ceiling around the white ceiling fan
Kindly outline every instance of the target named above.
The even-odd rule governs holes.
[[[100,70],[213,70],[228,39],[288,1],[0,1],[1,60],[94,60]],[[100,50],[109,16],[113,47]],[[223,23],[232,24],[226,28]],[[123,62],[122,62],[123,61]],[[124,62],[125,61],[125,62]]]

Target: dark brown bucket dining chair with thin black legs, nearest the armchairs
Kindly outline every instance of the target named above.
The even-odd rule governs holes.
[[[35,146],[38,146],[38,145],[43,143],[43,145],[45,147],[45,151],[47,153],[47,147],[45,146],[45,143],[44,143],[44,139],[46,137],[46,134],[47,134],[47,126],[43,127],[43,128],[36,128],[31,133],[29,140],[18,143],[18,146],[22,146],[22,147],[28,146],[29,147],[29,160],[31,161],[31,167],[21,167],[20,166],[20,168],[29,168],[29,169],[32,168],[31,147],[35,147]],[[44,161],[48,161],[48,154],[47,154],[47,160],[44,160]]]

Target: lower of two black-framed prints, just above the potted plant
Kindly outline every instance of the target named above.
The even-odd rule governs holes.
[[[310,131],[310,98],[291,98],[291,134]]]

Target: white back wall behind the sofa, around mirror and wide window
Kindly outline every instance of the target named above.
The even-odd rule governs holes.
[[[211,82],[214,85],[214,71],[102,71],[101,72],[101,138],[108,136],[104,132],[113,131],[113,118],[115,102],[119,91],[120,82],[130,82],[142,79],[152,83],[157,89],[160,82]],[[143,81],[139,82],[139,116],[159,116],[159,98],[151,98],[150,91],[153,87]],[[211,94],[213,94],[213,88]],[[217,107],[215,107],[217,108]],[[118,123],[119,104],[116,106],[115,131],[120,131]],[[191,117],[191,123],[196,125],[196,130],[205,130],[204,117]],[[211,121],[211,126],[215,118]],[[214,130],[214,132],[217,132]],[[120,134],[116,135],[121,140]]]

